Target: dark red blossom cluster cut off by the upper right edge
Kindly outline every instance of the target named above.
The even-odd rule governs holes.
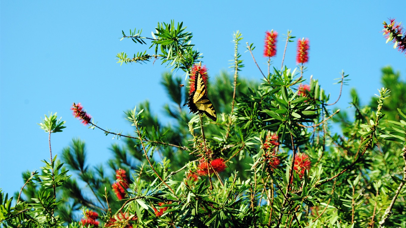
[[[399,22],[395,22],[395,19],[389,19],[389,24],[383,22],[384,29],[383,35],[388,41],[396,43],[396,47],[400,52],[406,53],[406,31],[404,27]]]

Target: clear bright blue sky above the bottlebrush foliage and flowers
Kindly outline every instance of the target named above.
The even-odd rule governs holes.
[[[349,90],[355,87],[361,102],[377,93],[380,69],[391,65],[405,80],[405,56],[385,44],[382,22],[388,17],[406,22],[406,1],[1,1],[0,32],[0,188],[13,194],[22,187],[21,173],[39,170],[49,159],[48,134],[37,123],[48,112],[66,120],[63,132],[52,134],[53,154],[60,154],[72,138],[86,142],[89,164],[104,163],[112,153],[111,136],[84,127],[73,118],[73,102],[84,108],[103,128],[130,133],[123,111],[148,99],[155,114],[168,102],[160,86],[168,70],[159,62],[117,64],[118,52],[145,50],[147,45],[120,41],[121,30],[143,28],[150,37],[157,22],[184,22],[193,43],[203,53],[210,77],[229,71],[233,58],[232,34],[244,37],[240,53],[245,68],[240,76],[261,80],[245,43],[254,43],[257,62],[262,57],[266,30],[279,32],[274,66],[279,68],[284,47],[282,34],[310,40],[305,78],[313,75],[322,87],[338,96],[333,79],[344,70],[349,86],[336,107],[346,109]],[[296,42],[289,43],[285,64],[296,67]],[[177,75],[185,77],[183,71]],[[184,83],[186,84],[186,82]]]

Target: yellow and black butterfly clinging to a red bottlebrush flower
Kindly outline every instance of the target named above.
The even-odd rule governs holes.
[[[199,71],[196,71],[194,76],[194,91],[189,95],[188,103],[184,105],[188,105],[190,112],[204,113],[213,121],[217,120],[216,110],[214,110],[212,102],[207,98],[206,86]]]

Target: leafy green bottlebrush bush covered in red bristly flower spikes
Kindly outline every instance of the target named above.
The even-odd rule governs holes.
[[[265,60],[246,43],[252,60],[245,61],[258,66],[261,81],[239,78],[243,37],[235,32],[233,77],[210,82],[209,66],[199,63],[204,58],[185,31],[171,22],[158,23],[152,37],[123,32],[123,39],[151,43],[152,52],[117,54],[121,64],[160,60],[189,73],[185,86],[170,73],[162,79],[173,124],[162,125],[142,103],[126,112],[134,135],[124,135],[100,128],[81,103],[73,103],[73,116],[84,125],[125,139],[126,146],[112,146],[114,174],[85,166],[84,143],[73,140],[62,154],[69,172],[51,153],[41,175],[26,174],[24,199],[11,206],[2,193],[4,227],[406,227],[406,115],[405,103],[397,102],[406,93],[389,97],[380,88],[363,107],[352,92],[352,118],[332,110],[348,75],[341,73],[332,95],[337,100],[330,101],[306,73],[309,39],[297,40],[296,68],[284,59],[281,68],[272,65],[276,41],[284,42],[283,56],[296,41],[291,31],[279,38],[274,30],[265,33]],[[260,61],[268,63],[267,71]],[[385,108],[388,99],[391,109]],[[342,133],[331,130],[333,122]],[[52,115],[41,127],[51,135],[63,122]],[[91,197],[70,173],[86,183]],[[75,219],[78,210],[81,219]]]

